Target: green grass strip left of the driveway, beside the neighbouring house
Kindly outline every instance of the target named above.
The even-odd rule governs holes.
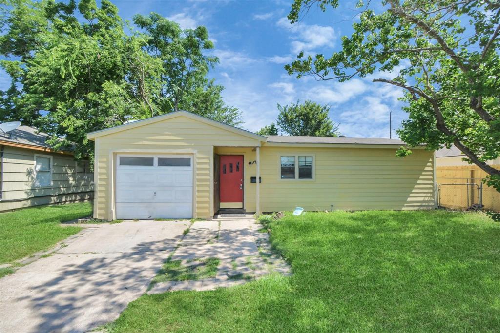
[[[59,223],[91,214],[90,203],[33,207],[0,213],[0,264],[47,249],[76,234],[81,230],[80,227],[61,227]]]

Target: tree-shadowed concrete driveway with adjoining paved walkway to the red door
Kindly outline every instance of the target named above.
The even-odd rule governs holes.
[[[253,220],[124,221],[85,228],[52,255],[0,279],[0,333],[87,332],[111,322],[148,290],[170,255],[183,263],[219,258],[217,276],[160,283],[150,293],[244,283],[228,279],[227,272],[242,270],[254,278],[272,271],[267,267],[273,260],[273,269],[288,273],[258,228]]]

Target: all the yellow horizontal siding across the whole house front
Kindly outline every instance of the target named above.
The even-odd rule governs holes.
[[[195,150],[195,214],[209,218],[213,213],[213,153],[244,156],[244,208],[255,211],[256,175],[253,147],[258,141],[179,116],[158,123],[131,128],[96,139],[96,177],[94,214],[111,219],[115,155],[110,152],[157,155],[165,150]],[[239,147],[237,147],[239,146]],[[135,150],[135,151],[133,151]],[[151,152],[147,152],[150,150]],[[152,152],[154,151],[154,152]],[[182,153],[182,152],[179,152]],[[315,156],[313,181],[279,179],[279,156],[300,154]],[[395,148],[271,147],[260,149],[260,209],[306,210],[429,209],[434,206],[432,153],[415,149],[399,159]]]

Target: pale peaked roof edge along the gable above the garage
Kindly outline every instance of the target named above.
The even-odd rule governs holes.
[[[161,115],[154,116],[154,117],[151,117],[151,118],[146,118],[146,119],[142,119],[142,120],[136,120],[134,122],[130,122],[130,123],[126,123],[126,124],[122,124],[122,125],[118,125],[118,126],[114,126],[114,127],[105,128],[105,129],[101,129],[101,130],[98,130],[98,131],[90,132],[90,133],[87,133],[87,139],[94,140],[95,138],[97,138],[99,136],[104,136],[104,135],[108,135],[108,134],[112,134],[112,133],[117,133],[117,132],[125,131],[125,130],[128,130],[128,129],[140,127],[140,126],[145,126],[145,125],[153,124],[153,123],[156,123],[156,122],[159,122],[159,121],[168,120],[168,119],[175,118],[175,117],[178,117],[178,116],[184,116],[184,117],[187,117],[187,118],[191,118],[193,120],[197,120],[199,122],[202,122],[202,123],[205,123],[205,124],[208,124],[208,125],[211,125],[211,126],[222,128],[222,129],[225,129],[225,130],[227,130],[229,132],[240,134],[240,135],[243,135],[243,136],[246,136],[246,137],[258,140],[258,141],[265,142],[266,139],[267,139],[265,136],[258,135],[258,134],[255,134],[253,132],[250,132],[250,131],[247,131],[247,130],[244,130],[244,129],[241,129],[241,128],[237,128],[237,127],[234,127],[234,126],[231,126],[231,125],[227,125],[227,124],[224,124],[224,123],[212,120],[212,119],[208,119],[208,118],[202,117],[200,115],[197,115],[195,113],[191,113],[191,112],[184,111],[184,110],[179,110],[179,111],[174,111],[174,112],[170,112],[170,113],[166,113],[166,114],[161,114]]]

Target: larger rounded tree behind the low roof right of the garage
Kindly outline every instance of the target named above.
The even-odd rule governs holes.
[[[310,100],[303,104],[297,101],[295,104],[281,106],[278,104],[277,125],[279,129],[288,135],[305,136],[337,136],[338,125],[329,118],[328,105],[320,105]]]

